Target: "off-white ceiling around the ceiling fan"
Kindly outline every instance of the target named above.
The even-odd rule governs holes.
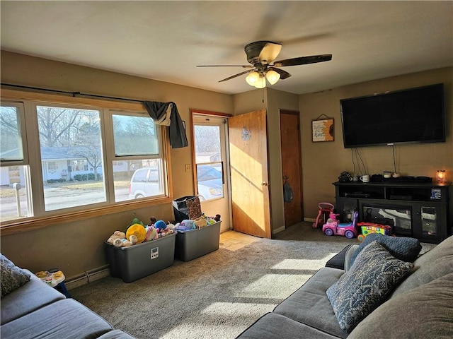
[[[282,43],[273,88],[312,93],[453,66],[452,1],[0,1],[1,49],[220,93],[254,88],[249,42]]]

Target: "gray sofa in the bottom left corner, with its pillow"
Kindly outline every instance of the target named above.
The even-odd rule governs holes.
[[[1,256],[0,338],[130,339],[101,316]]]

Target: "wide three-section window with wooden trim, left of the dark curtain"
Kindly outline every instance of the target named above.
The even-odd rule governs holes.
[[[166,134],[141,104],[118,110],[116,102],[43,95],[49,101],[37,103],[22,94],[0,107],[2,227],[137,198],[168,201]],[[135,187],[142,172],[144,187]]]

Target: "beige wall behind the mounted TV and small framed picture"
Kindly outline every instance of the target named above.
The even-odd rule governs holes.
[[[403,175],[434,177],[437,169],[447,171],[447,179],[453,179],[453,68],[437,69],[407,76],[396,76],[378,81],[348,85],[322,93],[299,96],[302,115],[302,177],[304,183],[304,215],[316,218],[318,203],[335,203],[335,187],[340,172],[352,172],[351,150],[343,147],[340,99],[357,97],[384,91],[414,88],[434,83],[445,84],[445,115],[447,142],[396,145],[396,168]],[[321,114],[335,119],[335,141],[312,143],[311,121]],[[393,170],[391,146],[358,148],[369,174]],[[453,198],[450,200],[450,210]]]

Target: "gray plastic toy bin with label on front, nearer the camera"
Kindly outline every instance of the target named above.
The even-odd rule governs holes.
[[[158,270],[172,266],[175,259],[176,233],[129,247],[115,247],[105,242],[110,275],[131,283]]]

